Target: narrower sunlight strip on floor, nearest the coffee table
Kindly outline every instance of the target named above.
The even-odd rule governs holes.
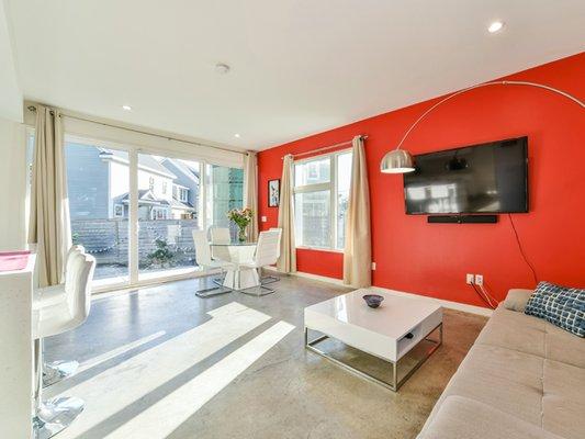
[[[277,323],[138,416],[133,417],[106,438],[166,438],[293,329],[294,326],[285,322]]]

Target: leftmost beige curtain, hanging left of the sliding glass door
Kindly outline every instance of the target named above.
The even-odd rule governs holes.
[[[64,153],[59,113],[37,105],[29,243],[36,244],[38,286],[61,282],[71,246]]]

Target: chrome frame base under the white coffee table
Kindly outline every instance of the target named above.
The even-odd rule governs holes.
[[[434,339],[430,339],[428,338],[432,333],[435,333],[436,330],[439,330],[439,338],[437,340],[434,340]],[[397,392],[398,389],[405,383],[406,380],[408,380],[408,378],[410,378],[410,375],[413,373],[415,373],[417,371],[418,368],[420,368],[420,365],[423,365],[423,363],[425,361],[427,361],[427,359],[439,348],[439,346],[441,346],[442,344],[442,323],[439,324],[438,326],[436,326],[430,333],[428,333],[423,340],[420,341],[428,341],[430,344],[432,344],[431,348],[426,352],[425,357],[421,358],[414,367],[412,367],[408,372],[402,378],[398,380],[398,361],[389,361],[386,359],[381,359],[385,362],[389,362],[391,363],[392,365],[392,381],[391,382],[387,382],[387,381],[383,381],[383,380],[380,380],[379,378],[375,378],[364,371],[361,371],[359,369],[356,369],[351,365],[349,365],[348,363],[341,361],[341,360],[338,360],[336,359],[335,357],[330,356],[329,353],[318,349],[318,348],[315,348],[316,345],[318,345],[320,341],[325,340],[329,338],[329,336],[327,335],[323,335],[314,340],[308,340],[308,328],[305,327],[305,348],[315,352],[315,353],[318,353],[319,356],[326,358],[327,360],[331,361],[333,363],[344,368],[345,370],[364,379],[364,380],[368,380],[368,381],[371,381],[373,383],[376,383],[376,384],[380,384],[386,389],[390,389],[391,391],[393,392]],[[348,345],[349,346],[349,345]],[[359,348],[355,348],[355,349],[358,349]],[[379,357],[376,357],[379,358]]]

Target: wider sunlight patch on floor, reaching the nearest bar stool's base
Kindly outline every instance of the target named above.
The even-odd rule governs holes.
[[[98,430],[108,429],[110,417],[270,319],[235,302],[209,314],[211,320],[64,392],[85,399],[86,409],[59,439],[78,438],[103,421]]]

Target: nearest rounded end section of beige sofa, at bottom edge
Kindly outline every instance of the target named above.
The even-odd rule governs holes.
[[[550,431],[463,396],[448,396],[417,439],[563,439]]]

